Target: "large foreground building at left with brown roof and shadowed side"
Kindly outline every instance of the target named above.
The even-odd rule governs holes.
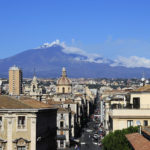
[[[57,109],[0,96],[0,150],[56,149]]]

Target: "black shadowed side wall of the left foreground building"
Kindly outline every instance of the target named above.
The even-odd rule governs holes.
[[[37,114],[37,149],[56,149],[56,116],[57,110],[43,110]]]

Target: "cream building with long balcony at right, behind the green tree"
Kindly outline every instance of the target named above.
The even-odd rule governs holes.
[[[117,101],[121,107],[112,107],[111,99],[105,102],[105,121],[109,131],[130,126],[150,125],[150,85],[138,88],[126,95],[126,105]]]

